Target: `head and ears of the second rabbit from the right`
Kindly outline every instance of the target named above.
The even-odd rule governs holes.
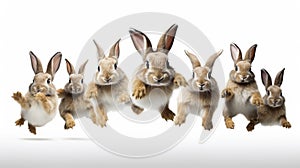
[[[251,46],[243,59],[240,48],[234,43],[230,44],[231,57],[234,61],[235,68],[230,73],[232,81],[240,84],[247,84],[255,81],[255,75],[251,71],[251,64],[255,57],[256,47],[256,44]]]

